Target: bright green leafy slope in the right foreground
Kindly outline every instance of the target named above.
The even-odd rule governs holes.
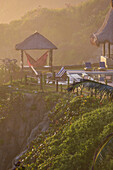
[[[18,169],[91,169],[96,148],[113,131],[112,113],[113,105],[105,100],[61,98],[49,114],[49,130],[32,142]]]

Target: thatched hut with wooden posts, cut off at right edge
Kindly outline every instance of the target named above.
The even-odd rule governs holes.
[[[111,1],[112,2],[112,1]],[[112,3],[111,3],[112,5]],[[113,68],[113,55],[111,53],[111,45],[113,45],[113,8],[108,11],[104,23],[101,28],[91,35],[90,41],[92,44],[102,45],[102,56],[100,61],[105,62],[106,67]],[[106,52],[107,44],[107,52]]]

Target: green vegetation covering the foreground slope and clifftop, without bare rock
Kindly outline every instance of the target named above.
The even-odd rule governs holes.
[[[84,91],[81,96],[76,96],[74,93],[42,93],[41,91],[38,93],[37,86],[30,86],[25,82],[22,84],[18,80],[12,84],[2,85],[0,87],[0,123],[17,111],[22,113],[22,119],[26,121],[23,115],[24,94],[33,94],[34,101],[38,96],[38,100],[46,103],[45,110],[50,110],[48,131],[42,133],[39,129],[40,135],[20,158],[17,168],[90,170],[96,149],[113,131],[113,104],[108,100],[108,96],[104,98],[101,96],[101,92],[105,93],[106,90],[109,92],[110,89],[107,86],[106,88],[100,86],[96,86],[98,88],[96,97],[90,97],[86,96]],[[89,84],[89,87],[95,86]],[[90,92],[87,94],[90,95]],[[52,106],[55,107],[51,110]],[[31,115],[36,110],[37,103],[33,102],[30,106]],[[1,138],[0,145],[3,144],[4,140]],[[105,156],[105,162],[112,167],[112,156],[110,154]],[[107,168],[108,165],[105,166],[105,162],[98,164],[97,169]]]

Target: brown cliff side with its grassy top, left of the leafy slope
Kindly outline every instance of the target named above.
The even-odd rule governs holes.
[[[12,167],[13,159],[36,135],[30,136],[34,127],[41,127],[48,110],[61,96],[55,93],[36,94],[36,87],[19,85],[19,82],[0,85],[0,170]],[[21,90],[15,92],[14,89]],[[46,122],[43,124],[48,126]]]

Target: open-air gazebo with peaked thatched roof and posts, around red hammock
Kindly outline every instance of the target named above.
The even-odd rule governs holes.
[[[35,32],[30,35],[24,41],[19,44],[16,44],[16,50],[21,51],[21,68],[23,69],[23,52],[24,50],[48,50],[49,51],[49,66],[52,70],[52,61],[53,61],[53,50],[57,47],[50,42],[43,35]]]

